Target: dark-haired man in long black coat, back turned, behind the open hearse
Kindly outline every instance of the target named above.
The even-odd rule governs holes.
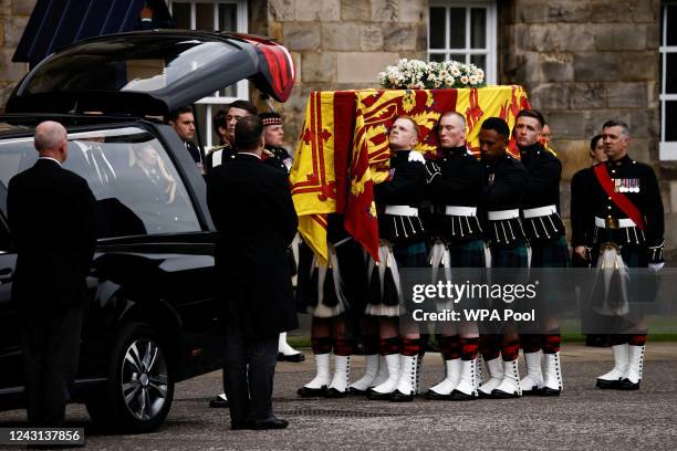
[[[298,218],[287,175],[261,161],[263,125],[236,126],[230,164],[211,170],[207,203],[219,231],[216,265],[223,307],[223,379],[232,429],[282,429],[272,413],[278,336],[299,326],[287,248]]]

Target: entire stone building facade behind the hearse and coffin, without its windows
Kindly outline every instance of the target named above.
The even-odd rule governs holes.
[[[9,61],[33,3],[0,0],[0,105],[25,70]],[[296,66],[296,86],[280,105],[288,136],[299,135],[311,91],[377,87],[376,74],[397,59],[428,59],[430,8],[445,3],[493,9],[494,81],[523,85],[545,114],[564,167],[563,212],[569,180],[590,162],[590,138],[621,118],[633,129],[632,156],[659,176],[675,250],[677,161],[659,156],[665,0],[248,0],[248,31],[281,41]]]

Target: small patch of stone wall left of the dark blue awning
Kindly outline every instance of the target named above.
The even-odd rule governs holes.
[[[0,0],[0,112],[28,71],[28,64],[12,63],[12,56],[34,6],[35,0]]]

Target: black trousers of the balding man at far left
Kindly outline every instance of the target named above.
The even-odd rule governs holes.
[[[21,343],[28,418],[35,426],[60,426],[71,398],[80,357],[82,307],[39,307],[21,313]]]

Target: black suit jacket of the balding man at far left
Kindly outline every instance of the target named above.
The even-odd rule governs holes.
[[[7,206],[18,253],[13,301],[83,305],[96,248],[95,200],[85,179],[39,159],[10,180]]]

